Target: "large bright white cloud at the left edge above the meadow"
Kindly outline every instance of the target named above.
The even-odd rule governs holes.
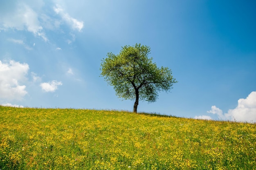
[[[0,98],[20,100],[27,94],[25,85],[20,85],[27,77],[29,65],[10,60],[9,63],[0,61]]]

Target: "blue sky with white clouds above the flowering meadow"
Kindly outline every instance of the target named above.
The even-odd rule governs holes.
[[[0,2],[0,104],[133,110],[100,77],[122,46],[151,48],[178,83],[138,112],[256,121],[256,2]]]

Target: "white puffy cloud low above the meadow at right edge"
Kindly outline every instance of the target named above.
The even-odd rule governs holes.
[[[216,106],[211,106],[211,110],[207,112],[217,114],[222,120],[256,122],[256,91],[250,93],[246,99],[239,99],[238,106],[229,109],[228,113],[223,114]]]

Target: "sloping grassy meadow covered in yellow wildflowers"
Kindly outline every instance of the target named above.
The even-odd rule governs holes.
[[[256,124],[0,106],[0,170],[256,170]]]

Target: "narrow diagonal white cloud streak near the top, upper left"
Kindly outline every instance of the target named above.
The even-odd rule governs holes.
[[[68,13],[65,13],[64,10],[56,4],[56,7],[54,7],[54,11],[61,15],[61,18],[65,20],[68,24],[72,26],[72,29],[77,29],[78,31],[81,31],[83,29],[83,21],[78,21],[75,18],[72,18]]]

